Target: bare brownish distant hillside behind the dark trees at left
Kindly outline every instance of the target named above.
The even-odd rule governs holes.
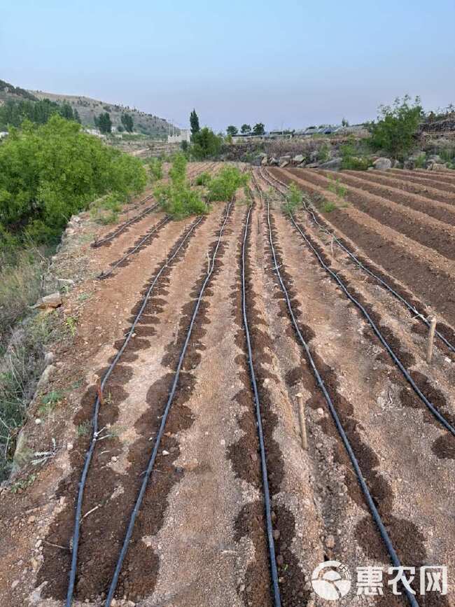
[[[87,127],[94,128],[94,116],[104,112],[109,112],[111,115],[112,124],[114,127],[121,125],[120,117],[124,112],[130,113],[134,120],[134,132],[143,133],[151,137],[165,137],[169,132],[169,123],[164,118],[158,118],[146,112],[139,111],[129,106],[119,104],[111,104],[83,97],[81,95],[56,95],[52,92],[44,92],[42,90],[27,91],[31,97],[35,99],[50,99],[58,104],[68,103],[73,109],[76,109],[80,116],[80,121]]]

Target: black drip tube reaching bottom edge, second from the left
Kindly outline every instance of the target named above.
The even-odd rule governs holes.
[[[176,368],[176,372],[174,375],[174,381],[172,382],[172,387],[171,387],[171,391],[169,392],[169,398],[167,399],[167,403],[165,406],[165,410],[162,414],[162,419],[161,419],[161,424],[160,424],[160,429],[158,430],[158,434],[155,440],[155,445],[153,446],[153,451],[152,454],[150,456],[150,459],[148,461],[148,466],[146,468],[146,471],[144,473],[144,479],[142,481],[141,484],[141,489],[139,490],[139,495],[137,496],[137,500],[136,503],[134,504],[134,508],[132,510],[132,515],[130,517],[130,522],[128,524],[128,528],[127,528],[127,532],[125,533],[125,539],[123,540],[123,545],[122,545],[122,549],[120,550],[120,554],[118,557],[118,561],[116,564],[116,568],[115,571],[113,573],[112,576],[112,580],[111,580],[111,585],[109,586],[109,592],[108,595],[106,597],[106,603],[104,603],[105,607],[110,607],[111,605],[111,601],[113,599],[113,595],[114,592],[116,592],[116,587],[118,584],[118,578],[120,575],[120,571],[122,570],[122,566],[123,566],[123,561],[125,560],[127,551],[128,551],[128,546],[130,544],[130,540],[132,537],[132,533],[133,533],[133,529],[134,529],[134,522],[136,521],[136,517],[138,515],[139,509],[141,508],[141,503],[142,500],[144,499],[144,494],[146,492],[146,488],[148,485],[148,480],[151,476],[152,470],[153,470],[153,466],[155,465],[155,459],[156,456],[158,454],[158,449],[160,448],[160,442],[161,442],[161,438],[162,435],[165,432],[165,426],[166,426],[166,421],[167,421],[167,417],[169,415],[169,411],[171,409],[171,405],[172,405],[172,401],[174,400],[174,396],[176,393],[176,389],[177,389],[177,384],[179,383],[179,377],[180,377],[180,372],[181,372],[181,368],[183,365],[183,360],[185,358],[185,354],[186,354],[186,350],[188,348],[188,344],[190,342],[190,337],[191,337],[191,333],[193,332],[193,326],[197,317],[197,312],[199,312],[199,308],[200,308],[200,304],[202,301],[202,297],[204,295],[204,291],[205,288],[207,286],[207,283],[209,282],[211,275],[214,272],[214,266],[215,266],[215,261],[216,261],[216,256],[218,253],[218,249],[219,246],[221,244],[221,238],[223,237],[223,231],[226,225],[226,222],[228,221],[229,215],[230,215],[230,210],[232,208],[232,203],[233,200],[230,201],[230,203],[227,206],[226,212],[225,212],[225,218],[223,220],[223,223],[221,225],[220,228],[220,232],[218,235],[218,241],[216,242],[216,246],[215,246],[215,250],[214,253],[212,255],[211,258],[211,263],[209,264],[209,270],[207,272],[207,276],[205,277],[205,280],[202,284],[199,296],[197,298],[197,302],[195,305],[195,308],[193,310],[193,316],[191,316],[191,321],[190,321],[190,327],[188,328],[188,333],[186,335],[186,340],[185,343],[183,344],[183,348],[179,357],[179,363],[177,364],[177,368]]]

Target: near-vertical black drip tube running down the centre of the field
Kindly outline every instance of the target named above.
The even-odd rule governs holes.
[[[262,470],[262,489],[264,492],[264,508],[265,508],[265,521],[267,527],[267,543],[269,545],[269,557],[270,557],[270,573],[272,576],[272,587],[273,587],[273,600],[274,607],[281,607],[281,596],[279,592],[278,583],[278,570],[276,568],[276,554],[275,554],[275,543],[273,538],[273,525],[272,525],[272,508],[270,505],[270,491],[269,491],[269,480],[267,473],[267,460],[265,458],[265,444],[264,444],[264,432],[262,430],[262,417],[261,407],[258,393],[258,384],[256,383],[256,376],[253,365],[253,352],[251,351],[251,340],[250,331],[248,328],[248,316],[246,314],[246,286],[245,286],[245,251],[246,251],[246,239],[248,237],[248,226],[250,221],[251,209],[253,209],[253,202],[250,204],[248,214],[246,215],[246,224],[244,231],[244,239],[241,246],[241,312],[244,319],[244,329],[246,337],[246,348],[248,350],[248,366],[250,369],[251,385],[253,386],[254,402],[255,402],[255,414],[256,414],[256,426],[258,427],[259,447],[260,447],[260,465]]]

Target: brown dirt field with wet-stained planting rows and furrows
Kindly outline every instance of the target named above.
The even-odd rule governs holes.
[[[327,172],[253,169],[207,216],[152,209],[80,244],[48,386],[66,397],[25,428],[55,456],[0,494],[1,606],[65,604],[90,445],[77,606],[104,604],[141,486],[112,605],[455,606],[455,178],[428,175],[342,172],[340,200]],[[287,216],[291,181],[335,210]],[[414,603],[387,584],[396,559]],[[323,561],[351,572],[337,602],[311,585]],[[419,595],[429,565],[444,596]],[[384,571],[384,596],[358,593],[358,567]]]

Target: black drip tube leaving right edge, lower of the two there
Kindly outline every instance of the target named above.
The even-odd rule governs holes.
[[[267,202],[267,204],[268,204],[268,202]],[[446,430],[448,430],[452,435],[455,436],[454,426],[452,426],[449,423],[449,421],[447,421],[447,419],[437,410],[435,405],[433,405],[433,403],[431,403],[430,400],[428,400],[428,398],[426,398],[426,396],[423,394],[423,392],[421,391],[419,386],[417,386],[416,382],[414,382],[414,379],[412,379],[409,371],[405,368],[405,365],[402,364],[402,362],[400,361],[398,356],[395,354],[393,349],[391,349],[390,344],[388,344],[384,335],[382,335],[379,328],[377,328],[376,323],[374,323],[373,319],[371,318],[370,314],[368,314],[365,307],[363,307],[363,305],[358,300],[356,300],[356,298],[353,295],[351,295],[351,293],[349,292],[348,288],[346,287],[346,285],[344,284],[342,279],[339,278],[338,274],[336,272],[333,272],[333,270],[331,270],[330,267],[328,267],[328,265],[326,265],[324,263],[324,260],[321,257],[321,255],[318,253],[318,250],[316,249],[316,247],[313,246],[313,244],[311,244],[311,242],[307,238],[307,235],[305,235],[302,228],[300,228],[300,225],[298,225],[295,222],[295,219],[294,219],[292,213],[289,214],[289,217],[290,217],[290,221],[293,224],[294,228],[297,230],[297,232],[300,233],[300,236],[302,236],[302,238],[304,239],[304,242],[306,242],[306,244],[309,246],[309,249],[312,251],[312,253],[314,253],[319,264],[321,265],[321,267],[323,267],[323,270],[325,270],[325,272],[327,272],[330,275],[330,277],[332,277],[332,279],[335,279],[335,281],[337,281],[337,284],[342,288],[342,291],[344,292],[346,297],[353,303],[353,305],[355,305],[360,310],[360,312],[362,312],[363,316],[365,316],[365,319],[370,324],[375,335],[378,337],[381,344],[384,346],[384,348],[386,349],[388,354],[391,356],[395,365],[397,365],[397,367],[400,369],[400,371],[402,372],[402,375],[405,377],[406,381],[412,387],[412,389],[414,390],[416,395],[419,396],[419,398],[422,400],[423,404],[426,405],[426,407],[428,407],[428,410],[430,410],[430,412],[433,413],[433,415],[437,419],[437,421],[439,421]]]

